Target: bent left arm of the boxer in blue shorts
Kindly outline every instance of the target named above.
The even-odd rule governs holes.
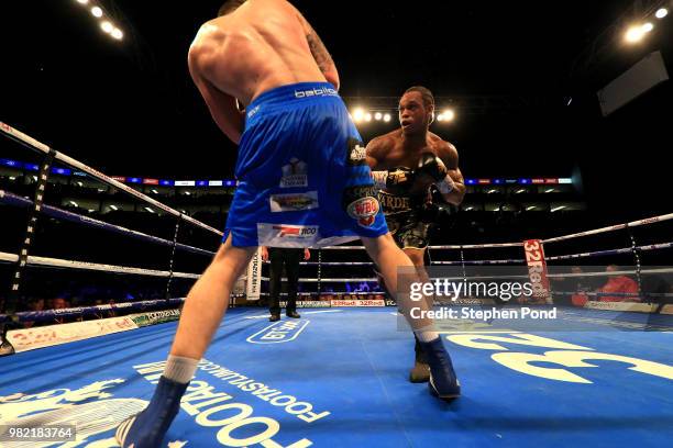
[[[245,125],[245,112],[239,110],[235,98],[219,90],[208,79],[205,67],[210,53],[203,45],[192,45],[188,58],[189,74],[218,127],[238,145]]]

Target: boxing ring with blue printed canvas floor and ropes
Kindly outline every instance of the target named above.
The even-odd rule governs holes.
[[[30,224],[44,214],[98,226],[165,246],[172,257],[187,251],[207,258],[217,248],[219,231],[1,123],[0,132],[45,155],[42,175],[48,173],[47,161],[59,160],[174,216],[176,237],[158,238],[44,205],[41,193],[46,177],[37,184],[33,201],[0,192],[0,203],[7,208],[29,208],[33,212]],[[562,243],[671,220],[673,214],[655,216],[542,243],[545,249],[556,248],[554,245]],[[177,228],[187,224],[212,234],[213,246],[202,249],[178,243]],[[16,254],[0,254],[2,262],[16,267],[18,280],[33,267],[156,277],[166,281],[166,291],[170,291],[172,280],[198,278],[196,272],[173,269],[40,257],[30,253],[30,235],[29,228]],[[630,247],[559,254],[545,259],[551,262],[631,255],[635,269],[626,272],[635,275],[639,284],[643,276],[671,272],[669,268],[641,266],[640,261],[642,254],[665,251],[672,243],[641,244],[632,233],[629,235]],[[471,266],[525,266],[526,259],[517,255],[504,259],[472,257],[472,251],[479,250],[520,254],[522,245],[432,246],[431,265],[454,266],[459,270]],[[362,259],[362,250],[358,246],[320,250],[317,261],[305,264],[305,269],[316,269],[309,275],[312,277],[302,277],[301,281],[316,285],[312,296],[334,295],[334,291],[322,290],[324,284],[375,281],[371,262],[352,260]],[[338,260],[336,254],[347,254],[350,261]],[[442,254],[457,254],[460,259],[439,259]],[[173,267],[173,258],[169,266]],[[324,276],[326,269],[336,268],[351,269],[349,277]],[[20,289],[20,282],[14,284]],[[377,292],[349,292],[363,294]],[[395,306],[383,306],[387,301],[367,301],[372,302],[368,305],[377,305],[371,307],[353,306],[353,301],[323,301],[324,307],[299,310],[301,320],[274,324],[267,322],[268,313],[261,309],[230,307],[168,432],[168,446],[668,446],[673,438],[673,305],[662,302],[650,306],[647,313],[641,310],[649,305],[644,301],[604,306],[604,302],[591,300],[599,299],[600,293],[585,295],[589,299],[587,304],[595,306],[563,307],[545,331],[495,324],[443,329],[441,335],[463,389],[463,396],[451,403],[431,396],[426,384],[407,381],[413,360],[412,338],[397,331],[399,315]],[[639,291],[639,295],[648,294]],[[670,294],[661,296],[668,299]],[[166,300],[0,316],[4,322],[21,324],[52,322],[55,316],[92,316],[102,311],[123,314],[21,329],[24,339],[12,339],[18,352],[0,357],[0,427],[71,424],[77,436],[69,441],[12,440],[0,441],[0,446],[115,447],[115,426],[141,410],[152,395],[153,382],[163,370],[175,334],[178,313],[174,309],[180,302],[180,298],[167,295]],[[638,310],[625,312],[629,306]],[[80,324],[95,328],[87,333]],[[59,344],[66,340],[71,341]]]

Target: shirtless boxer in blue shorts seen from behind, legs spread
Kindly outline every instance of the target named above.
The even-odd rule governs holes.
[[[189,69],[216,124],[239,144],[240,183],[223,243],[187,295],[154,395],[117,429],[124,448],[162,443],[257,246],[320,246],[360,237],[390,291],[398,288],[398,267],[413,267],[380,213],[362,138],[336,92],[336,67],[299,11],[285,0],[227,1],[218,19],[199,30]],[[408,315],[409,294],[400,299]],[[427,310],[424,302],[413,305]],[[410,320],[410,325],[429,352],[431,392],[441,399],[460,395],[431,320]]]

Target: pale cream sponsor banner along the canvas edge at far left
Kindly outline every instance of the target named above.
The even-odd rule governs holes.
[[[20,352],[136,328],[135,322],[129,316],[124,316],[36,328],[12,329],[8,332],[7,338],[14,346],[14,349]]]

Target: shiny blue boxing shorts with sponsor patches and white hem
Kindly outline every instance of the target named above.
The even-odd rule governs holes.
[[[246,111],[223,240],[322,247],[388,232],[362,138],[332,85],[278,87]]]

